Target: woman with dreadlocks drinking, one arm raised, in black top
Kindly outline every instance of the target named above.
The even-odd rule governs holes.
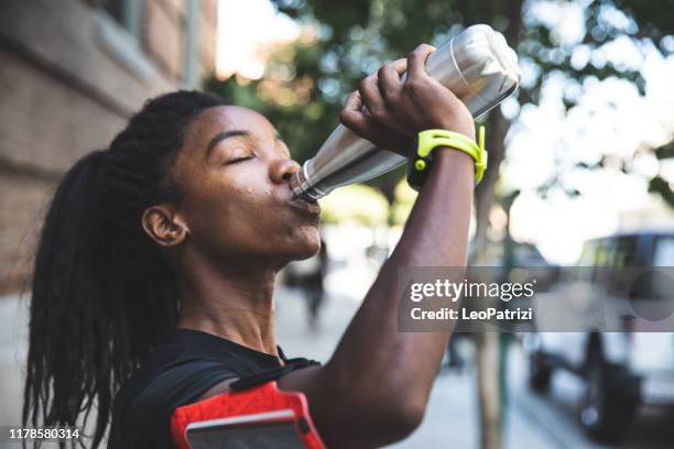
[[[343,123],[405,155],[426,129],[475,139],[466,107],[425,73],[432,51],[361,81]],[[435,154],[398,248],[334,355],[312,364],[276,346],[272,307],[279,270],[319,249],[319,207],[289,184],[300,166],[254,111],[198,92],[149,101],[55,193],[35,264],[24,424],[73,425],[96,406],[91,447],[112,417],[109,447],[166,448],[175,407],[279,368],[328,447],[406,437],[449,335],[398,331],[396,269],[466,264],[474,162]]]

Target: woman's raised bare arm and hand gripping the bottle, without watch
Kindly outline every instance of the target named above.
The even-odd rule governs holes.
[[[401,154],[427,129],[475,140],[470,112],[432,79],[424,64],[433,47],[382,67],[352,94],[341,121],[380,147]],[[399,74],[407,68],[407,78]],[[362,110],[367,107],[367,111]],[[402,266],[465,266],[474,162],[438,149],[433,169],[402,238],[347,328],[329,362],[279,382],[302,391],[329,448],[379,447],[406,437],[422,420],[449,332],[399,332],[396,271]]]

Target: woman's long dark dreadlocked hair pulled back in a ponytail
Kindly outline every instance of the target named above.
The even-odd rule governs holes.
[[[149,100],[109,150],[84,156],[61,180],[35,256],[24,426],[81,418],[85,428],[95,408],[97,448],[116,391],[175,327],[174,276],[141,217],[154,204],[180,200],[170,169],[187,125],[220,105],[197,91]]]

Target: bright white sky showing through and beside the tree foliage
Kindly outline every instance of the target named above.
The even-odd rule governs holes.
[[[218,74],[224,77],[233,72],[246,78],[261,77],[270,45],[300,35],[297,24],[278,14],[268,0],[220,0],[218,11]],[[535,20],[553,28],[563,45],[574,45],[583,35],[581,13],[579,3],[552,1],[541,2],[531,12]],[[617,25],[630,26],[620,13],[609,19]],[[601,154],[631,155],[674,135],[674,57],[663,59],[654,48],[637,46],[629,40],[595,54],[577,45],[572,57],[578,67],[587,62],[608,61],[640,68],[646,79],[645,97],[618,79],[588,81],[579,87],[553,76],[540,105],[521,111],[515,101],[501,106],[506,116],[520,112],[519,125],[508,136],[508,160],[502,167],[502,187],[522,190],[512,208],[512,234],[517,240],[535,243],[555,263],[574,263],[589,238],[635,226],[674,223],[674,213],[646,193],[646,180],[657,169],[674,179],[674,164],[659,168],[653,157],[642,156],[635,161],[637,174],[629,176],[618,169],[569,169],[574,161],[591,163]],[[521,61],[521,68],[522,83],[526,83],[532,67]],[[561,101],[565,92],[579,98],[568,114]],[[565,185],[583,195],[568,198],[552,193],[546,199],[537,196],[535,187],[555,171],[563,171]]]

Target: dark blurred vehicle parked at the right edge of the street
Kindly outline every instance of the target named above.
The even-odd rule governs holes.
[[[640,405],[674,405],[674,333],[635,331],[634,317],[617,311],[627,309],[627,305],[633,310],[634,304],[657,306],[668,302],[671,305],[672,282],[663,284],[662,280],[655,283],[648,278],[649,285],[640,288],[639,297],[630,288],[616,288],[630,266],[673,267],[674,230],[590,240],[584,245],[578,265],[588,267],[587,285],[595,291],[587,291],[601,289],[597,294],[604,295],[608,307],[615,308],[607,315],[622,324],[604,328],[581,325],[585,328],[579,332],[526,335],[529,382],[532,388],[545,392],[555,370],[580,376],[586,383],[579,409],[581,425],[595,439],[618,442],[626,436]],[[557,293],[570,297],[570,291],[564,292],[568,284],[565,286],[561,281]],[[574,292],[578,292],[577,284],[575,280]]]

